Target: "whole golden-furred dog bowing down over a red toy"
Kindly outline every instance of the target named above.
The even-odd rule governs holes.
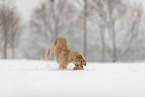
[[[54,53],[59,69],[67,69],[69,63],[73,63],[75,66],[79,65],[82,68],[83,65],[86,66],[87,62],[82,53],[69,50],[67,41],[63,37],[59,37],[52,42],[45,55],[46,60],[48,60],[50,52]]]

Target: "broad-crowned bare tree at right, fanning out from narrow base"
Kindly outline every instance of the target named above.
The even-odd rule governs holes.
[[[130,47],[129,44],[132,44],[132,40],[135,39],[135,36],[138,34],[138,24],[140,23],[140,17],[142,12],[138,10],[139,7],[134,7],[135,9],[130,8],[131,5],[124,4],[121,0],[108,0],[107,1],[107,9],[108,9],[108,27],[109,33],[112,39],[112,61],[116,62],[123,54],[126,53],[127,49]],[[135,11],[136,10],[136,11]],[[132,14],[136,12],[137,16],[133,17]],[[128,18],[129,17],[129,18]],[[120,22],[120,24],[118,23]],[[117,25],[118,23],[118,25]],[[131,23],[131,24],[130,24]],[[130,24],[127,26],[127,24]],[[126,25],[123,28],[123,25]],[[123,29],[122,29],[123,28]],[[119,33],[124,30],[125,34]],[[128,33],[131,33],[129,37],[122,39],[124,44],[128,43],[128,45],[120,47],[126,47],[126,50],[120,50],[118,44],[118,35],[128,36]],[[121,38],[121,37],[120,37]],[[129,39],[130,38],[130,39]],[[128,40],[129,39],[129,40]],[[119,52],[122,52],[121,54]]]

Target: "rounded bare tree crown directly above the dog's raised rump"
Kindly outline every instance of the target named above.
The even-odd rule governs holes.
[[[41,35],[38,39],[45,44],[45,47],[39,49],[41,55],[45,54],[47,46],[58,36],[69,32],[74,21],[74,10],[71,2],[66,0],[46,0],[34,9],[30,25],[32,33]]]

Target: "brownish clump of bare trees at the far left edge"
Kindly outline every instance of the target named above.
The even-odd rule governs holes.
[[[0,1],[0,58],[15,58],[20,37],[20,17],[10,1]]]

